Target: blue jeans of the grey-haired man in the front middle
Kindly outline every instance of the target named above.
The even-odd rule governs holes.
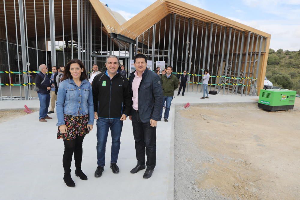
[[[123,127],[123,121],[120,118],[97,120],[97,164],[105,166],[105,148],[107,142],[108,131],[110,129],[112,135],[112,151],[110,154],[110,163],[117,163],[120,151],[120,137]]]

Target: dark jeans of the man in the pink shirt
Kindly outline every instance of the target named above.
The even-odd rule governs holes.
[[[145,155],[147,155],[147,168],[154,169],[156,163],[156,127],[151,127],[150,121],[141,122],[139,113],[132,110],[132,128],[137,164],[145,165]]]

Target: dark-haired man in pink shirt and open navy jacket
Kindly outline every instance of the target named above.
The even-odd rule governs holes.
[[[137,54],[134,58],[135,71],[129,78],[132,111],[133,135],[137,166],[130,172],[137,173],[145,169],[145,154],[147,154],[147,169],[143,178],[150,178],[156,163],[156,125],[163,101],[160,77],[147,69],[147,58]],[[146,149],[145,149],[146,148]]]

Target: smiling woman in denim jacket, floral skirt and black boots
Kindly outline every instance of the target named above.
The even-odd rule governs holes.
[[[78,59],[71,60],[64,69],[64,75],[57,92],[56,113],[58,118],[57,139],[64,140],[64,182],[75,187],[71,178],[71,161],[74,152],[75,175],[87,180],[81,171],[82,141],[93,129],[94,103],[91,84],[86,80],[86,71]]]

